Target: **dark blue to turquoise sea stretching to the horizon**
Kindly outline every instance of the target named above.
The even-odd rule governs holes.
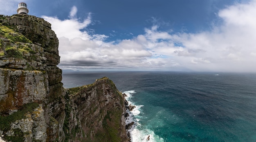
[[[256,74],[63,72],[64,87],[107,76],[136,109],[132,142],[256,142]]]

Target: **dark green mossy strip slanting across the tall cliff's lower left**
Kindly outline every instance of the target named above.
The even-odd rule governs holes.
[[[26,118],[25,114],[27,112],[31,113],[38,106],[38,103],[28,103],[23,105],[21,109],[11,115],[0,116],[0,129],[4,132],[9,131],[11,129],[12,122]]]

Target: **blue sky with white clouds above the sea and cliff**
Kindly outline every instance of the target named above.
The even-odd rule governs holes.
[[[22,2],[52,24],[61,69],[256,72],[256,0]]]

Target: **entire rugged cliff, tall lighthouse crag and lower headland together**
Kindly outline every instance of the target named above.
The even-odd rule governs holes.
[[[3,139],[126,141],[124,97],[112,81],[65,90],[59,59],[51,24],[31,15],[0,15]]]

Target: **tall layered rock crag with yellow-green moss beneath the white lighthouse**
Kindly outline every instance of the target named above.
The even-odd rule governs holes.
[[[50,27],[31,15],[0,16],[0,130],[7,141],[65,138],[65,90]]]

